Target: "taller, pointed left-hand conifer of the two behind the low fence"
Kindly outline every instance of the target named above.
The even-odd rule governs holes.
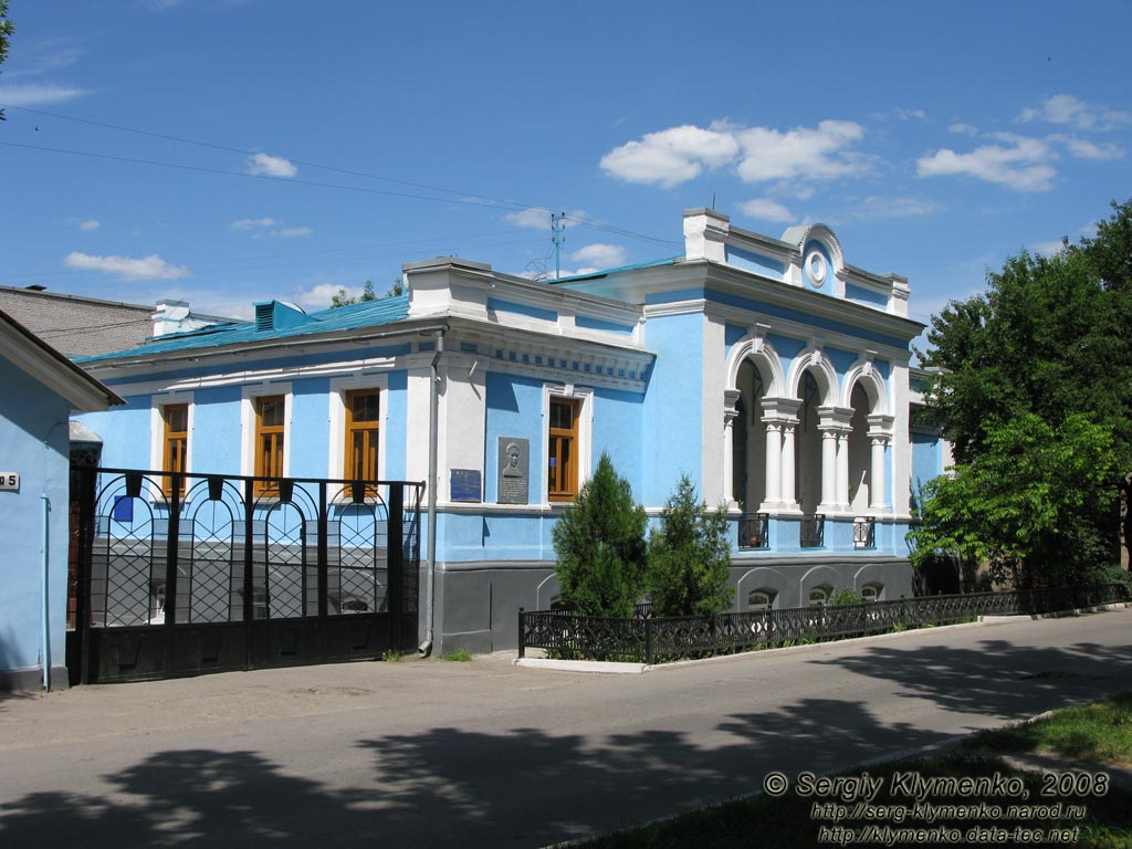
[[[602,454],[593,478],[555,524],[561,600],[585,616],[632,616],[645,574],[646,525],[628,481]]]

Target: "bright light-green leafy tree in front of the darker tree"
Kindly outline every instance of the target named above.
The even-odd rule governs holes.
[[[927,484],[912,563],[958,551],[1019,588],[1086,582],[1112,550],[1096,521],[1113,503],[1108,429],[1081,413],[1057,428],[1021,413],[984,431],[970,463]]]

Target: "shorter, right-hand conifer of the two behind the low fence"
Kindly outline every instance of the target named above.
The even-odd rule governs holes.
[[[696,616],[726,610],[731,540],[727,511],[709,513],[688,475],[680,475],[649,537],[649,594],[657,616]]]

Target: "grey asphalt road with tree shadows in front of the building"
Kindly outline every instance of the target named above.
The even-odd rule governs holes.
[[[1123,609],[637,676],[491,655],[0,695],[0,846],[544,846],[1132,689],[1130,626]]]

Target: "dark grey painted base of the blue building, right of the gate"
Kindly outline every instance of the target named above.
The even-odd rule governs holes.
[[[732,561],[735,610],[752,592],[772,592],[774,607],[803,607],[824,586],[881,588],[880,598],[910,598],[912,569],[897,557],[781,557]],[[423,585],[423,583],[422,583]],[[558,595],[551,560],[439,563],[436,573],[434,654],[454,649],[491,652],[518,645],[518,610],[546,610]],[[423,611],[424,606],[421,604]],[[421,624],[422,631],[427,627]]]

